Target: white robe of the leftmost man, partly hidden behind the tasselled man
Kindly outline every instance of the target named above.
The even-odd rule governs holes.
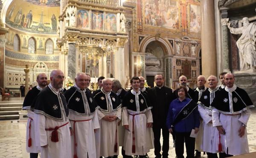
[[[36,146],[36,137],[35,137],[35,113],[29,109],[27,109],[27,116],[29,117],[26,127],[26,151],[29,153],[39,153],[40,152],[40,146]],[[32,118],[33,120],[31,120]],[[29,142],[29,122],[31,120],[31,128],[30,128],[30,137],[32,140],[31,147],[28,146]]]

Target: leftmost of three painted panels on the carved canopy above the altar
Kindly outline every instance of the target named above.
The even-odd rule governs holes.
[[[77,11],[76,25],[77,28],[89,29],[89,11],[79,10]]]

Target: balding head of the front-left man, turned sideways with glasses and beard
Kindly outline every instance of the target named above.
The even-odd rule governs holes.
[[[63,86],[64,73],[61,70],[53,70],[50,74],[51,85],[55,89],[59,89]]]

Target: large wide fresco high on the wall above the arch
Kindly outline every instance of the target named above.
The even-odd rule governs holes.
[[[144,25],[178,29],[179,3],[175,0],[143,0]]]

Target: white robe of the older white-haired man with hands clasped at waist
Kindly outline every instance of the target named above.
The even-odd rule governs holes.
[[[95,139],[96,139],[96,152],[97,152],[97,158],[99,156],[109,157],[113,155],[119,155],[119,145],[118,145],[118,128],[116,133],[116,127],[117,122],[121,120],[121,113],[122,109],[119,108],[117,111],[113,113],[104,113],[97,110],[98,118],[99,118],[99,124],[100,129],[96,131],[95,133]],[[104,116],[116,116],[116,121],[105,121],[102,119]],[[117,138],[117,152],[114,152],[114,147],[116,144],[116,138]]]

